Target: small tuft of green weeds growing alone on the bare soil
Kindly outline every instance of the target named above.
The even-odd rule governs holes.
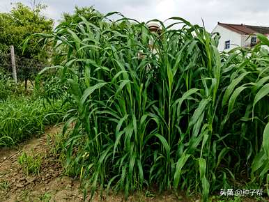
[[[38,175],[40,171],[40,166],[42,162],[42,157],[39,155],[34,155],[32,151],[32,155],[27,155],[26,152],[22,152],[22,155],[18,158],[19,164],[22,166],[24,173],[27,176],[33,173],[34,175]]]

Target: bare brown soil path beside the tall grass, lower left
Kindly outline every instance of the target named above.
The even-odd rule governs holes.
[[[82,201],[79,182],[63,176],[57,157],[49,153],[47,134],[58,132],[61,126],[47,127],[40,138],[0,150],[0,201]],[[22,151],[42,156],[39,175],[24,173],[18,163]]]

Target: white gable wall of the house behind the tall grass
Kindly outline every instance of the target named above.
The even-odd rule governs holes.
[[[217,47],[219,51],[229,51],[230,49],[233,49],[238,46],[242,46],[243,39],[239,33],[236,33],[234,31],[231,31],[229,29],[224,28],[223,26],[220,26],[217,24],[215,26],[215,29],[213,29],[213,33],[218,32],[220,33],[220,42]],[[230,40],[230,48],[225,48],[225,41]],[[250,39],[249,39],[250,42]]]

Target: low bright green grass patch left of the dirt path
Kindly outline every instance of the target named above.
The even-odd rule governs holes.
[[[61,104],[61,100],[49,104],[24,96],[0,101],[0,146],[12,146],[44,132],[45,125],[61,121]]]

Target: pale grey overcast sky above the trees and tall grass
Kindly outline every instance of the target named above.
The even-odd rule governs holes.
[[[269,26],[269,0],[36,0],[46,4],[45,15],[59,20],[61,13],[72,13],[75,5],[94,6],[101,13],[118,11],[139,21],[166,20],[178,16],[192,24],[205,22],[212,31],[217,22]],[[0,12],[9,11],[14,0],[0,0]],[[31,0],[21,0],[31,5]]]

